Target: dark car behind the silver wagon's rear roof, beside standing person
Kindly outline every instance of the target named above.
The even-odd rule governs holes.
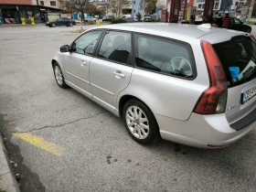
[[[222,27],[222,18],[223,17],[221,16],[213,18],[214,23],[216,23],[219,27]],[[241,22],[240,19],[238,19],[235,16],[230,16],[230,19],[231,19],[231,23],[230,23],[229,29],[251,33],[251,26],[243,24],[243,22]]]

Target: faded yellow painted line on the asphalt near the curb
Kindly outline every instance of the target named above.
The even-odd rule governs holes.
[[[17,138],[22,139],[23,141],[26,141],[28,144],[33,144],[34,146],[37,146],[52,155],[60,156],[64,151],[64,148],[62,146],[59,146],[58,144],[49,143],[44,138],[35,136],[31,133],[13,133],[13,134]]]

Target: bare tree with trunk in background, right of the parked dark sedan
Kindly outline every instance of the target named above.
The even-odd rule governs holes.
[[[81,13],[81,22],[84,20],[84,10],[88,4],[89,0],[66,0],[66,7],[69,11],[77,11]]]

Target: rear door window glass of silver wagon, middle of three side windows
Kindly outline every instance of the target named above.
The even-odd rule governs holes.
[[[99,57],[129,64],[131,44],[130,33],[108,31],[103,38]]]

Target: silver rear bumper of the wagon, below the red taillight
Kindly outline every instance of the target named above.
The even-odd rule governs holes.
[[[210,148],[208,144],[232,144],[256,127],[256,122],[254,122],[236,131],[230,127],[225,114],[192,113],[185,122],[158,114],[155,114],[155,118],[163,139],[202,148]]]

